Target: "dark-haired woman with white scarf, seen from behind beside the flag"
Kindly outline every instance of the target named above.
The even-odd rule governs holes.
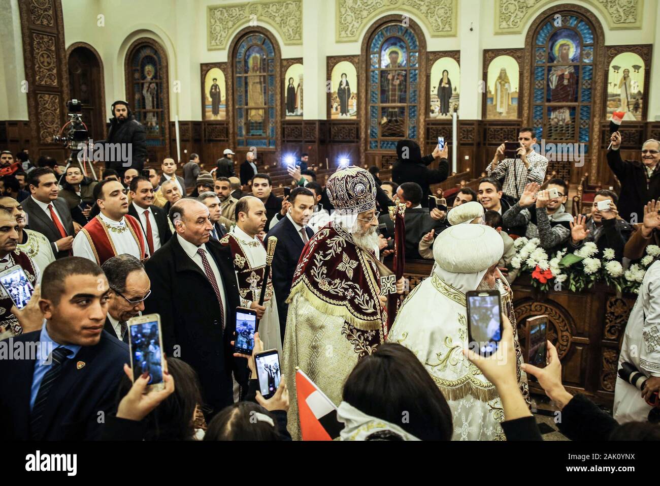
[[[337,416],[343,440],[449,440],[451,410],[411,350],[386,343],[344,384]]]

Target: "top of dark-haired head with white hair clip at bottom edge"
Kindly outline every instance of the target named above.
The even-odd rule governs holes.
[[[290,440],[278,421],[261,405],[240,401],[226,407],[209,424],[204,440]]]

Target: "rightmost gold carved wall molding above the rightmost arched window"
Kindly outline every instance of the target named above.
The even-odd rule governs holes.
[[[495,0],[495,34],[522,34],[530,17],[553,1]],[[644,0],[582,0],[582,3],[599,11],[610,30],[642,28]]]

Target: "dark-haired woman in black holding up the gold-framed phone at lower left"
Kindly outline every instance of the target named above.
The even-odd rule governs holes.
[[[127,376],[130,376],[130,368],[126,366],[124,370],[126,369],[129,370]],[[104,440],[201,439],[201,432],[195,429],[194,423],[197,407],[202,401],[197,373],[186,362],[168,358],[163,378],[166,384],[174,378],[176,389],[172,384],[173,393],[157,403],[157,406],[154,405],[155,408],[143,417],[123,417],[125,412],[122,411],[122,404],[130,401],[135,385],[131,384],[129,378],[121,381],[117,391],[117,417],[108,417],[106,420],[102,435]]]

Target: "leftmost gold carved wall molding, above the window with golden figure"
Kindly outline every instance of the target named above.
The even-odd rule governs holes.
[[[270,0],[209,5],[207,7],[207,47],[225,49],[246,20],[272,26],[284,45],[302,44],[302,0]]]

